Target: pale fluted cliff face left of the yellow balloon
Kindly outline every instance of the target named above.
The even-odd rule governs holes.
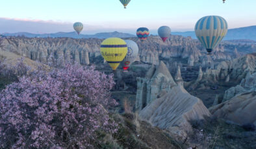
[[[100,55],[101,41],[71,38],[4,38],[0,49],[43,63],[61,63],[60,60],[68,60],[86,65],[90,63],[90,56]]]

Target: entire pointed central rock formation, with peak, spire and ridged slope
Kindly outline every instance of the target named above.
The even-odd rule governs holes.
[[[153,65],[146,78],[137,78],[136,109],[140,118],[149,120],[153,126],[191,130],[190,120],[204,119],[211,114],[199,98],[190,95],[180,84],[179,68],[175,78],[178,85],[163,62],[157,67]]]

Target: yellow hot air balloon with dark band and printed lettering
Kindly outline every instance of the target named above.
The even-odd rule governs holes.
[[[127,54],[127,44],[121,38],[107,38],[101,43],[101,55],[115,71]]]

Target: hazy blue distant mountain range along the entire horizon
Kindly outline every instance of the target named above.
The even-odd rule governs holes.
[[[181,36],[190,36],[196,39],[196,35],[194,31],[188,32],[172,32],[173,35],[181,35]],[[122,33],[122,32],[102,32],[97,34],[80,34],[77,35],[76,32],[57,32],[52,34],[31,34],[29,32],[17,32],[17,33],[4,33],[3,36],[25,36],[29,38],[59,38],[59,37],[68,37],[68,38],[110,38],[110,37],[118,37],[118,38],[130,38],[135,37],[134,34]],[[229,29],[227,32],[227,36],[225,36],[224,40],[255,40],[256,41],[256,25],[251,27],[241,27],[237,29]]]

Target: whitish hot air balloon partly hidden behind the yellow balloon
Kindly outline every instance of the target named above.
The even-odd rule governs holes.
[[[132,40],[125,40],[127,44],[127,54],[125,58],[123,59],[123,70],[126,71],[131,63],[133,63],[138,55],[138,45],[136,42]]]

